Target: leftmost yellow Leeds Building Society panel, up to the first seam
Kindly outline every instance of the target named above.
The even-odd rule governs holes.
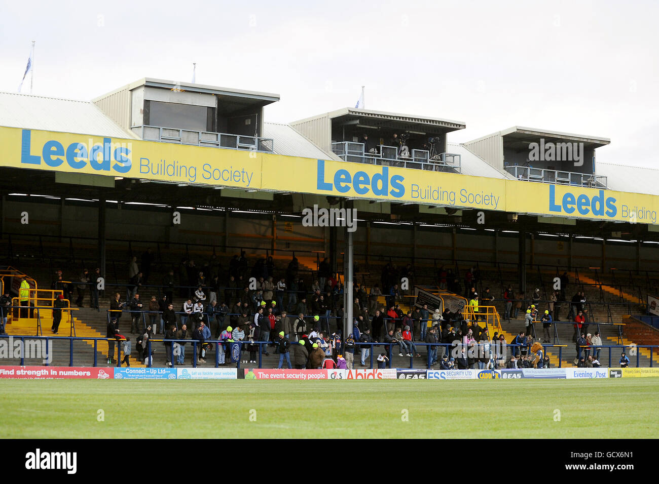
[[[260,153],[0,128],[0,165],[88,175],[260,188]]]

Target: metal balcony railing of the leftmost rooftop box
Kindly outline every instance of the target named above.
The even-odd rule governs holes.
[[[266,153],[273,153],[274,151],[274,140],[272,138],[163,128],[161,126],[133,126],[130,130],[145,141],[210,146],[211,148],[245,149]]]

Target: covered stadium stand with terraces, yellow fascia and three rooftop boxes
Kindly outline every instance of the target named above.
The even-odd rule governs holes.
[[[427,358],[435,343],[425,340],[424,323],[432,327],[436,321],[438,344],[451,344],[442,329],[464,329],[461,320],[477,316],[484,344],[494,333],[511,344],[530,330],[524,347],[507,347],[509,357],[528,352],[544,338],[542,322],[536,319],[527,327],[527,307],[534,304],[539,318],[554,304],[560,309],[552,317],[559,315],[559,321],[553,322],[544,350],[552,366],[571,367],[579,352],[570,310],[575,297],[588,314],[587,333],[601,335],[602,366],[616,365],[623,348],[631,350],[631,365],[659,362],[659,332],[641,319],[659,314],[649,302],[659,294],[659,184],[648,183],[656,181],[656,171],[596,165],[595,151],[609,144],[606,138],[519,126],[455,144],[447,136],[465,124],[440,118],[341,109],[290,124],[264,121],[264,107],[278,99],[152,78],[92,102],[0,93],[5,153],[0,276],[3,294],[9,294],[3,306],[7,335],[47,336],[53,344],[49,364],[101,366],[121,361],[117,348],[130,337],[131,366],[162,366],[172,359],[167,356],[171,346],[165,346],[159,331],[162,308],[148,308],[149,302],[171,294],[181,329],[185,319],[194,319],[182,309],[188,298],[194,301],[200,285],[204,313],[217,300],[229,303],[227,315],[222,324],[206,317],[212,336],[203,343],[208,344],[206,362],[190,349],[195,328],[188,325],[182,364],[215,366],[219,345],[227,354],[229,347],[218,343],[217,335],[229,325],[248,335],[262,299],[275,301],[275,314],[281,306],[287,309],[293,325],[306,296],[305,333],[314,327],[324,331],[329,347],[353,333],[360,315],[361,331],[374,325],[379,333],[374,309],[385,315],[385,325],[393,319],[394,327],[402,327],[405,313],[413,311],[418,321],[415,309],[422,311],[428,301],[442,311],[448,308],[452,319],[451,325],[442,324],[428,313],[420,325],[413,323],[420,356],[399,356],[397,344],[384,343],[383,331],[365,363],[374,367],[376,353],[384,351],[390,352],[391,367],[427,367],[435,364]],[[88,137],[88,144],[78,142],[78,135]],[[582,144],[581,156],[592,163],[529,161],[529,146],[538,141]],[[198,159],[198,165],[190,159]],[[94,162],[99,167],[80,165]],[[355,173],[330,176],[324,171],[330,166]],[[405,176],[411,184],[403,184]],[[549,209],[542,205],[545,199]],[[614,215],[604,213],[616,199],[625,204],[615,205]],[[303,210],[314,205],[356,209],[359,230],[353,236],[343,226],[305,225]],[[90,307],[95,306],[97,267],[103,277],[98,309]],[[89,281],[80,280],[83,269]],[[59,282],[57,271],[62,271]],[[138,273],[142,277],[134,279]],[[34,306],[27,315],[20,308],[25,276],[31,288],[28,304]],[[561,277],[567,277],[567,285]],[[285,290],[278,291],[281,278]],[[329,294],[326,281],[331,281]],[[304,288],[295,287],[299,282]],[[313,290],[316,282],[322,302]],[[398,287],[391,294],[394,284]],[[114,294],[129,303],[136,286],[143,306],[132,314],[141,331],[130,333],[130,312],[123,306],[121,336],[108,338],[108,325],[118,313],[111,303]],[[479,295],[479,311],[470,286]],[[382,294],[370,296],[376,287]],[[552,301],[555,292],[558,299]],[[55,335],[53,308],[60,294],[65,309]],[[506,297],[513,311],[507,311]],[[246,317],[235,308],[239,300],[247,304]],[[397,315],[395,309],[389,312],[392,303],[400,306]],[[510,315],[518,305],[517,317]],[[155,352],[145,362],[136,344],[151,321],[158,334],[150,336]],[[279,362],[278,332],[269,329],[270,346],[262,348],[269,354],[258,355],[261,367]],[[254,340],[259,337],[256,331]],[[330,352],[334,358],[338,353],[336,348]],[[244,345],[241,361],[229,364],[253,361],[253,355]],[[484,365],[486,356],[482,360]],[[29,358],[5,363],[42,364]]]

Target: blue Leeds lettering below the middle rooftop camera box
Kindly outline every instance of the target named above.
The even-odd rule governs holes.
[[[345,169],[337,170],[329,179],[333,182],[325,181],[325,160],[318,160],[318,182],[316,188],[326,192],[336,190],[339,193],[347,193],[352,188],[359,195],[366,195],[373,192],[374,195],[383,197],[392,196],[401,198],[405,195],[405,187],[401,183],[405,178],[401,175],[393,175],[389,178],[389,167],[382,167],[382,173],[376,173],[371,178],[365,171],[358,171],[355,175]],[[391,186],[391,191],[389,191]]]

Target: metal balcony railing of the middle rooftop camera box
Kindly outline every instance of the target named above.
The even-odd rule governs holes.
[[[364,152],[363,143],[342,141],[331,144],[334,154],[343,161],[412,168],[416,170],[461,173],[461,157],[454,153],[438,153],[431,157],[430,151],[425,149],[411,149],[409,157],[401,157],[400,149],[395,146],[378,145],[378,148],[380,148],[378,153],[366,153]]]

